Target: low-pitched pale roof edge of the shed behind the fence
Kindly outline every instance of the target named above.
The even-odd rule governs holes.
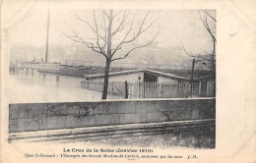
[[[162,72],[153,71],[153,70],[127,70],[122,72],[109,73],[109,76],[111,77],[111,76],[118,76],[118,75],[132,74],[132,73],[149,73],[155,76],[163,76],[171,79],[190,81],[190,78],[187,78],[187,77],[180,77],[170,73],[162,73]],[[86,79],[97,79],[97,78],[103,78],[103,77],[104,77],[103,74],[94,74],[94,75],[85,76]]]

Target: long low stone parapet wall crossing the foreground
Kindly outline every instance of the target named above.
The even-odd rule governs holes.
[[[9,105],[9,132],[215,119],[216,99],[162,99]]]

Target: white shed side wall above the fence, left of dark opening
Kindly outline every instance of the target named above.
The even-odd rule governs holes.
[[[129,74],[123,74],[123,75],[116,75],[116,76],[109,76],[109,82],[111,81],[128,81],[128,82],[135,82],[139,81],[139,77],[141,77],[140,81],[144,80],[144,73],[143,72],[137,72],[137,73],[129,73]],[[104,81],[103,78],[96,78],[96,79],[90,79],[89,81]]]

